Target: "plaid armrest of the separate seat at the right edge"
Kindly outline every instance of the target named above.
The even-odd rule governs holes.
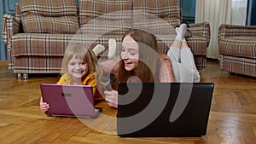
[[[218,27],[218,41],[224,37],[256,37],[256,26],[222,24]]]

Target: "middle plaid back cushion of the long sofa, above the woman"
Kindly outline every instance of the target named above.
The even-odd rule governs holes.
[[[131,29],[132,0],[79,0],[81,30],[123,35]]]

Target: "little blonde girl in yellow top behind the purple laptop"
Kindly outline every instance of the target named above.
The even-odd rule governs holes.
[[[95,51],[95,50],[94,50]],[[86,49],[82,44],[69,44],[62,61],[62,77],[57,84],[91,85],[95,100],[100,96],[96,93],[96,78],[100,78],[100,70],[93,50]],[[99,76],[99,77],[98,77]],[[40,100],[42,112],[49,109],[49,104]]]

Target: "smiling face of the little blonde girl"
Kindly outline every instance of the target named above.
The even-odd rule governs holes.
[[[68,73],[73,76],[73,79],[81,79],[88,72],[88,65],[84,60],[81,60],[77,55],[73,55],[72,59],[68,61]]]

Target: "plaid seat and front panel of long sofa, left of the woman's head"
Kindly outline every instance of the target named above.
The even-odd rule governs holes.
[[[19,33],[13,36],[15,73],[61,73],[62,57],[69,43],[84,43],[91,48],[96,43],[108,47],[108,39],[117,39],[120,52],[121,35],[96,37],[95,35]],[[107,56],[108,49],[100,56]],[[104,57],[102,57],[104,59]]]

